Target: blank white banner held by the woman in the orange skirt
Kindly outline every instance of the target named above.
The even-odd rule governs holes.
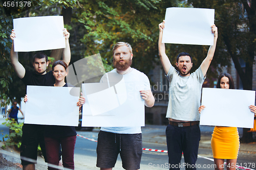
[[[203,88],[200,125],[253,128],[255,91]]]

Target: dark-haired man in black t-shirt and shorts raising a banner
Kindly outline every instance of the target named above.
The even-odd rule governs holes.
[[[66,48],[63,48],[62,58],[67,64],[70,63],[71,52],[69,46],[69,36],[70,33],[67,29],[63,29],[63,36],[65,36]],[[12,41],[15,38],[15,32],[12,30],[10,35]],[[35,86],[50,86],[55,83],[53,77],[53,72],[46,72],[48,66],[48,57],[44,53],[37,53],[33,57],[33,66],[35,71],[29,71],[24,68],[22,64],[18,61],[18,53],[14,52],[14,44],[12,42],[11,48],[11,63],[12,66],[18,75],[18,77],[27,85]],[[40,144],[42,154],[46,160],[46,149],[45,149],[45,139],[44,125],[33,125],[33,124],[24,124],[23,125],[23,135],[22,135],[22,145],[20,147],[20,159],[22,160],[23,169],[35,169],[35,163],[37,159],[37,148]],[[30,162],[28,159],[33,159],[33,162]]]

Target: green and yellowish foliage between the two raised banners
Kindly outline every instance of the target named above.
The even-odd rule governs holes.
[[[112,48],[116,42],[125,41],[133,47],[133,67],[147,74],[152,63],[159,62],[158,24],[164,18],[165,8],[173,7],[175,2],[79,1],[74,6],[69,30],[71,63],[100,53],[104,67],[112,68]]]

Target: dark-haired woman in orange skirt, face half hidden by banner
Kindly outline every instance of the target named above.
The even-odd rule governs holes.
[[[217,88],[234,89],[234,82],[230,74],[222,73],[218,78]],[[199,113],[205,106],[199,107]],[[256,107],[249,106],[256,115]],[[215,169],[224,169],[224,159],[227,160],[227,170],[235,170],[240,147],[237,127],[216,126],[211,137],[211,149],[214,156]]]

